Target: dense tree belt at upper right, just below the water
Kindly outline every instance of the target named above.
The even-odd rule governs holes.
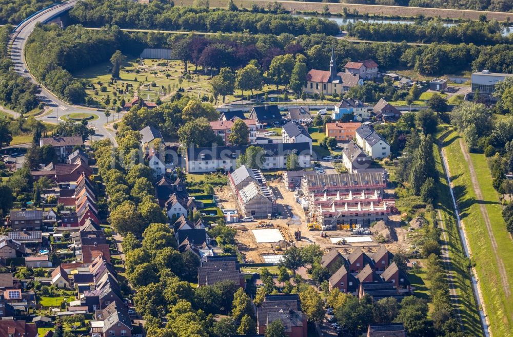
[[[490,22],[467,21],[452,27],[439,20],[422,24],[384,24],[359,21],[345,26],[350,35],[362,40],[495,45],[511,43],[511,36],[502,35],[502,25]]]

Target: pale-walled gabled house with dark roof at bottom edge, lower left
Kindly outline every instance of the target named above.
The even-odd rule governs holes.
[[[95,311],[91,321],[92,337],[132,336],[132,321],[125,304],[114,301],[103,310]]]

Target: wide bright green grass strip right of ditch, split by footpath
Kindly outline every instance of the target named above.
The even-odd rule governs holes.
[[[472,263],[475,264],[479,285],[483,295],[489,326],[494,337],[506,337],[513,334],[513,301],[502,286],[497,258],[502,259],[509,282],[513,282],[513,244],[506,232],[498,195],[493,190],[492,178],[483,155],[472,154],[478,183],[483,199],[477,200],[471,182],[468,165],[461,151],[459,136],[450,134],[443,143],[446,151],[453,191],[459,205],[466,235],[471,250]],[[492,233],[498,244],[497,258],[491,245],[480,204],[484,204],[491,222]],[[462,301],[468,297],[461,298]]]

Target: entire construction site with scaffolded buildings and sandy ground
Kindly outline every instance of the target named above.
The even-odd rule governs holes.
[[[234,187],[248,186],[253,180],[248,178],[250,175],[244,173],[229,178],[228,185],[216,189],[216,198],[223,212],[241,213]],[[261,178],[258,174],[256,176]],[[400,221],[394,221],[399,219],[399,215],[396,214],[394,199],[384,198],[386,181],[381,175],[311,177],[318,176],[305,176],[297,191],[290,191],[282,179],[265,181],[266,189],[274,198],[274,215],[262,220],[228,223],[237,230],[238,249],[247,263],[279,261],[280,255],[291,245],[304,247],[315,243],[322,249],[340,247],[341,251],[348,253],[356,248],[373,252],[384,242],[391,250],[408,247],[408,231],[400,227]],[[350,185],[349,179],[352,181]],[[327,185],[331,188],[326,188]],[[333,189],[336,185],[339,185],[337,192]],[[239,214],[239,217],[243,215]],[[370,228],[371,224],[374,226]]]

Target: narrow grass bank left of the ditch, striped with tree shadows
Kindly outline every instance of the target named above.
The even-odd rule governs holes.
[[[479,319],[476,299],[472,292],[471,276],[468,270],[469,260],[465,256],[458,231],[456,215],[452,207],[449,186],[445,179],[442,159],[437,145],[433,147],[436,167],[440,179],[438,181],[438,209],[447,233],[448,252],[451,260],[452,283],[458,295],[458,309],[465,330],[473,336],[481,336],[482,328]]]

